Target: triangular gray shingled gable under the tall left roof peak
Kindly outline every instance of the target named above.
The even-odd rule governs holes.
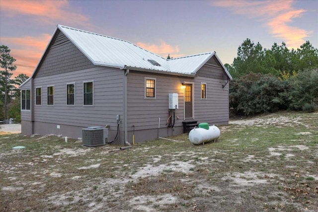
[[[36,77],[79,71],[93,67],[94,65],[88,58],[62,32],[59,32],[50,48],[48,48],[45,60],[38,66]]]

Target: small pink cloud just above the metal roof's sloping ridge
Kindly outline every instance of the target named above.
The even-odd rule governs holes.
[[[179,52],[178,46],[173,47],[169,44],[166,44],[164,41],[161,41],[159,45],[142,43],[142,42],[137,43],[137,45],[150,52],[156,53],[163,58],[166,58],[168,54],[170,54],[170,57],[171,56],[176,57],[177,53]]]

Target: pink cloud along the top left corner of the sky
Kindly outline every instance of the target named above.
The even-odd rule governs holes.
[[[13,17],[15,15],[31,15],[41,17],[39,21],[83,24],[88,17],[79,12],[70,12],[68,0],[3,0],[1,1],[1,12]]]

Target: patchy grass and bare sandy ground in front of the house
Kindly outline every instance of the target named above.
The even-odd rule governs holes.
[[[0,211],[318,211],[318,113],[275,113],[120,146],[0,135]],[[14,146],[23,149],[12,149]]]

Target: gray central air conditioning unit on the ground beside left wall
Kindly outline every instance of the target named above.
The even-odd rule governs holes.
[[[108,138],[108,129],[103,127],[88,127],[82,129],[82,142],[84,146],[105,145]]]

